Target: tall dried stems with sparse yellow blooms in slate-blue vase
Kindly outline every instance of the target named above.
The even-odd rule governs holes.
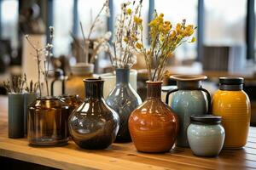
[[[114,68],[131,68],[137,59],[133,55],[140,29],[143,29],[141,10],[143,0],[121,4],[121,14],[116,20],[115,39],[108,44],[108,54]]]

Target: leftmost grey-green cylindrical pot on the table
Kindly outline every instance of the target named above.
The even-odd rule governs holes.
[[[24,137],[24,94],[8,94],[9,138]]]

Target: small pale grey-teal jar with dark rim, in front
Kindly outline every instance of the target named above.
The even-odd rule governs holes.
[[[187,134],[189,146],[195,156],[218,156],[224,144],[221,116],[191,116]]]

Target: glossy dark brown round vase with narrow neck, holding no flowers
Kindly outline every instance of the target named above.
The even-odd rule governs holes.
[[[73,141],[84,149],[105,149],[116,138],[119,116],[103,99],[102,79],[85,79],[85,99],[69,116]]]

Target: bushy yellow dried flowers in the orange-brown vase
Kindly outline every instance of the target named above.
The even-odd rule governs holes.
[[[164,20],[164,14],[154,11],[154,19],[148,23],[150,47],[146,48],[143,43],[142,19],[134,18],[138,26],[136,42],[131,43],[139,54],[143,54],[148,70],[149,81],[161,81],[164,76],[166,60],[172,57],[176,48],[184,42],[195,42],[191,37],[196,29],[193,25],[186,25],[186,20],[173,28],[168,20]]]

